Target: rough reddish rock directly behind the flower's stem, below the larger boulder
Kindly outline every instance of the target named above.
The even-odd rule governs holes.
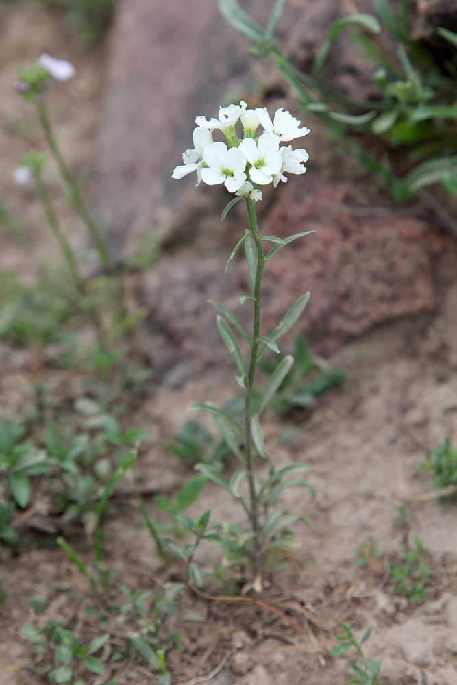
[[[282,188],[261,225],[264,234],[280,238],[315,231],[284,247],[267,264],[262,334],[269,334],[307,290],[310,303],[282,339],[282,349],[301,332],[316,351],[330,354],[374,326],[432,312],[434,285],[424,223],[395,210],[360,213],[351,206],[356,198],[346,186],[328,184],[315,192],[309,187],[305,197],[297,185]],[[238,237],[232,235],[233,244]],[[204,366],[230,360],[208,299],[230,309],[245,325],[251,308],[249,301],[237,301],[249,294],[245,260],[234,260],[224,274],[229,254],[227,248],[223,256],[164,257],[145,279],[143,303],[152,321],[167,332],[170,354],[177,346],[182,356],[197,356]]]

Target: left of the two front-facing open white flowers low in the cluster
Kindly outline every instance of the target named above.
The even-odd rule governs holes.
[[[225,184],[230,192],[236,192],[246,180],[246,158],[237,147],[227,149],[225,142],[214,142],[203,150],[201,179],[210,186]]]

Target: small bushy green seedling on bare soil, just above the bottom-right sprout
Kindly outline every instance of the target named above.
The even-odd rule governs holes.
[[[425,563],[430,553],[423,546],[421,538],[415,535],[412,539],[414,545],[405,551],[404,560],[399,564],[391,564],[391,579],[395,582],[392,592],[404,595],[412,604],[420,604],[430,592],[426,586],[433,571]]]

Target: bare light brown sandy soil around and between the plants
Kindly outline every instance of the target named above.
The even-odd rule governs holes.
[[[0,87],[5,93],[0,104],[0,198],[8,210],[21,212],[24,225],[19,236],[0,235],[0,262],[3,269],[14,268],[25,279],[33,279],[37,254],[49,258],[52,248],[32,192],[15,187],[11,173],[29,149],[29,141],[35,145],[39,136],[36,126],[27,123],[32,112],[9,90],[9,84],[18,65],[41,51],[77,64],[81,77],[76,90],[64,86],[55,94],[55,102],[56,116],[64,125],[65,152],[73,170],[79,172],[84,166],[90,168],[92,159],[101,56],[80,51],[62,36],[59,18],[35,5],[0,5],[0,21]],[[77,140],[77,145],[71,140]],[[71,218],[63,208],[62,216]],[[422,497],[429,492],[430,476],[419,471],[429,449],[446,436],[457,440],[457,286],[441,292],[440,299],[436,317],[384,327],[341,349],[331,362],[344,366],[349,380],[315,410],[297,412],[281,422],[271,417],[266,436],[275,461],[308,462],[313,469],[310,482],[317,491],[314,503],[301,490],[291,491],[284,502],[292,513],[310,519],[309,527],[298,529],[299,553],[286,570],[267,579],[262,595],[264,603],[284,615],[252,599],[217,601],[189,592],[184,609],[197,612],[203,622],[167,624],[167,630],[179,628],[183,646],[180,653],[170,656],[172,682],[194,684],[215,669],[217,673],[208,680],[213,685],[344,685],[349,680],[347,660],[333,658],[330,650],[338,621],[346,621],[358,635],[374,627],[367,654],[380,661],[387,685],[457,683],[456,505]],[[29,401],[32,366],[29,351],[1,344],[3,414],[19,412]],[[60,390],[61,397],[73,397],[77,378],[52,368],[45,373],[65,388]],[[170,436],[187,418],[190,402],[221,401],[235,388],[232,377],[219,371],[188,382],[182,390],[156,388],[140,406],[132,405],[127,422],[149,431],[136,470],[145,493],[171,495],[192,473],[167,447]],[[278,436],[290,427],[297,429],[293,440],[277,445]],[[160,565],[128,486],[114,503],[115,513],[105,527],[105,545],[116,582],[156,590],[165,580],[182,579],[179,566],[164,571]],[[395,506],[401,503],[411,512],[403,527],[395,523]],[[158,515],[150,497],[148,506]],[[232,502],[211,484],[190,514],[207,508],[212,509],[214,522],[242,521]],[[354,549],[369,535],[384,557],[378,566],[358,568]],[[401,558],[414,535],[430,550],[434,572],[430,595],[419,606],[392,595],[386,573],[388,562]],[[92,551],[84,536],[71,542],[90,564]],[[217,556],[217,549],[202,549],[199,561],[210,564]],[[92,592],[55,547],[35,541],[14,555],[4,551],[0,588],[7,593],[0,604],[2,685],[40,682],[32,671],[20,669],[30,658],[29,643],[21,637],[27,622],[42,626],[51,619],[60,620],[76,627],[86,640],[94,636],[97,622],[85,609],[97,606],[108,615],[113,631],[125,636],[130,630],[127,619],[117,618],[106,597]],[[28,604],[32,597],[50,599],[38,619]],[[114,678],[120,685],[156,682],[144,664],[134,660],[116,662],[106,677],[92,675],[88,682],[101,685]]]

